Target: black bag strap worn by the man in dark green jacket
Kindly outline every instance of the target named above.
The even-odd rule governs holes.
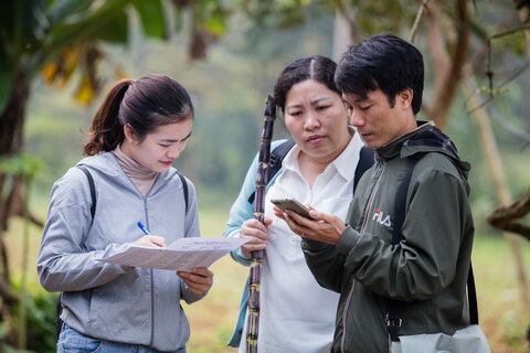
[[[398,189],[395,196],[394,205],[394,224],[392,228],[392,246],[400,243],[402,238],[401,229],[403,227],[403,222],[405,221],[405,205],[406,205],[406,194],[409,193],[409,186],[411,184],[412,173],[416,168],[420,160],[426,153],[416,154],[416,161],[412,164],[411,169],[405,175],[405,179]],[[469,272],[467,276],[467,300],[469,304],[469,319],[471,324],[478,324],[478,309],[477,309],[477,293],[475,289],[475,278],[473,276],[473,267],[469,263]],[[399,341],[400,336],[400,327],[401,327],[401,312],[402,303],[398,300],[388,300],[388,317],[386,324],[389,329],[390,336],[392,341]]]

